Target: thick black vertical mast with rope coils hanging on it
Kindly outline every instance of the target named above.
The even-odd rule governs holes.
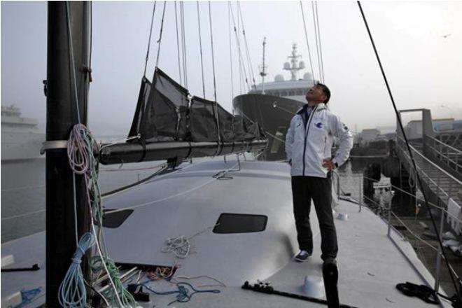
[[[57,291],[76,251],[73,212],[73,174],[66,153],[66,141],[78,123],[72,66],[75,65],[80,123],[87,124],[89,76],[90,2],[48,2],[47,124],[46,124],[46,303],[59,307]],[[74,61],[71,63],[68,24],[71,26]],[[83,178],[76,176],[78,237],[90,230]],[[82,263],[83,265],[86,262]],[[83,268],[84,275],[88,271]],[[87,277],[86,277],[87,278]]]

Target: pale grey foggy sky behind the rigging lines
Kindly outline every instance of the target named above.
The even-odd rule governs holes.
[[[304,1],[311,55],[316,55],[311,3]],[[163,2],[158,1],[150,61],[153,76]],[[196,1],[184,3],[188,89],[202,96]],[[232,2],[236,15],[236,3]],[[89,125],[94,134],[126,134],[134,115],[144,70],[153,2],[94,2]],[[399,109],[428,108],[433,118],[462,118],[462,2],[363,3]],[[45,121],[42,80],[46,78],[45,2],[1,2],[1,104]],[[300,2],[243,1],[241,10],[256,83],[267,37],[267,80],[282,73],[293,43],[309,59]],[[211,2],[218,102],[232,110],[228,3]],[[395,118],[356,1],[319,1],[325,83],[330,109],[358,130],[394,125]],[[200,2],[206,98],[213,99],[208,3]],[[450,34],[446,38],[444,35]],[[160,68],[179,81],[174,2],[167,2]],[[244,47],[244,41],[241,41]],[[244,49],[242,49],[243,52]],[[244,55],[245,57],[245,55]],[[234,95],[239,91],[238,52],[232,33]],[[314,76],[318,78],[317,59]],[[245,93],[246,88],[242,89]],[[441,106],[443,105],[443,106]],[[410,119],[405,118],[405,119]]]

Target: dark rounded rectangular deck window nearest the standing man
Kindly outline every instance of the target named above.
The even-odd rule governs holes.
[[[248,233],[265,230],[268,217],[254,214],[223,213],[218,218],[214,233]]]

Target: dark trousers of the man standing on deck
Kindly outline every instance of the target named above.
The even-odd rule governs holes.
[[[300,250],[313,252],[313,233],[309,225],[311,199],[321,230],[321,259],[337,257],[337,233],[332,216],[331,179],[315,176],[292,176],[293,214]]]

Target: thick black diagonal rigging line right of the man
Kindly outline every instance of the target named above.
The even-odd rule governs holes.
[[[377,62],[379,63],[381,75],[384,78],[384,82],[385,82],[385,85],[386,85],[386,90],[388,91],[388,95],[389,95],[389,97],[391,99],[391,104],[393,104],[393,109],[395,110],[395,115],[396,115],[396,118],[398,120],[398,124],[400,125],[400,130],[401,130],[402,136],[405,139],[406,146],[407,146],[407,151],[409,152],[409,158],[411,158],[412,165],[414,166],[414,169],[417,169],[416,162],[414,160],[414,156],[412,155],[411,147],[409,146],[409,141],[407,140],[404,127],[402,126],[402,122],[401,122],[400,114],[398,112],[398,108],[396,107],[396,104],[395,104],[395,99],[393,99],[393,94],[391,93],[390,86],[388,85],[388,80],[387,80],[386,75],[385,75],[384,67],[381,65],[379,53],[377,52],[377,48],[375,47],[374,39],[372,38],[372,34],[370,32],[369,25],[367,24],[367,20],[366,20],[365,15],[364,15],[363,8],[361,6],[360,1],[357,1],[357,3],[358,3],[360,13],[361,13],[361,15],[363,17],[364,25],[365,25],[365,27],[367,29],[367,34],[369,35],[369,38],[370,38],[370,43],[372,44],[372,48],[374,49],[375,57],[377,57]],[[423,184],[422,184],[422,181],[421,181],[421,177],[419,176],[418,173],[416,174],[416,177],[417,177],[417,180],[419,182],[419,186],[421,188],[421,192],[422,192],[422,195],[423,195],[423,200],[425,200],[426,208],[428,209],[428,214],[430,214],[433,229],[435,230],[435,235],[437,237],[438,243],[440,244],[441,251],[442,251],[443,256],[444,256],[444,262],[446,263],[447,269],[449,271],[449,276],[451,276],[451,281],[452,281],[452,283],[454,285],[454,289],[456,290],[457,298],[460,299],[461,298],[460,290],[458,289],[458,285],[457,285],[457,283],[456,283],[456,281],[454,279],[454,275],[451,272],[451,266],[449,265],[449,261],[447,260],[446,253],[444,252],[444,247],[442,246],[440,233],[438,232],[438,229],[436,227],[435,218],[433,217],[433,214],[430,211],[430,205],[428,204],[428,198],[426,196],[425,190],[422,189]]]

